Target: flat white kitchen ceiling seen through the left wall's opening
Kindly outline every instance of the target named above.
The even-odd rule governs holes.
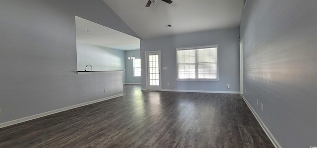
[[[75,16],[76,41],[111,49],[140,49],[140,39]],[[89,30],[90,32],[86,32]]]

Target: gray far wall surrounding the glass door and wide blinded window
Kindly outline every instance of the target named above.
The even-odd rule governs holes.
[[[239,28],[189,33],[141,40],[142,89],[146,89],[145,52],[161,50],[162,89],[239,91]],[[219,81],[176,81],[176,48],[218,45]],[[169,83],[169,86],[167,86]],[[230,89],[227,89],[227,84]]]

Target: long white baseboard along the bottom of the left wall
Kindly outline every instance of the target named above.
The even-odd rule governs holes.
[[[96,100],[92,100],[92,101],[88,101],[88,102],[84,102],[84,103],[80,103],[80,104],[76,104],[76,105],[71,105],[71,106],[68,106],[68,107],[59,108],[59,109],[51,110],[51,111],[48,111],[48,112],[43,112],[43,113],[40,113],[40,114],[36,114],[36,115],[32,115],[32,116],[28,116],[28,117],[12,120],[12,121],[0,123],[0,128],[7,127],[7,126],[10,126],[10,125],[14,125],[14,124],[18,124],[18,123],[25,122],[25,121],[29,121],[29,120],[33,120],[33,119],[36,119],[36,118],[41,118],[41,117],[48,116],[48,115],[51,115],[51,114],[54,114],[54,113],[66,111],[66,110],[69,110],[69,109],[74,109],[74,108],[78,108],[78,107],[81,107],[81,106],[86,106],[86,105],[89,105],[89,104],[101,102],[101,101],[104,101],[104,100],[107,100],[107,99],[113,99],[113,98],[121,97],[121,96],[123,96],[123,94],[118,94],[118,95],[114,95],[114,96],[110,96],[110,97],[106,97],[106,98],[102,98],[102,99],[96,99]]]

